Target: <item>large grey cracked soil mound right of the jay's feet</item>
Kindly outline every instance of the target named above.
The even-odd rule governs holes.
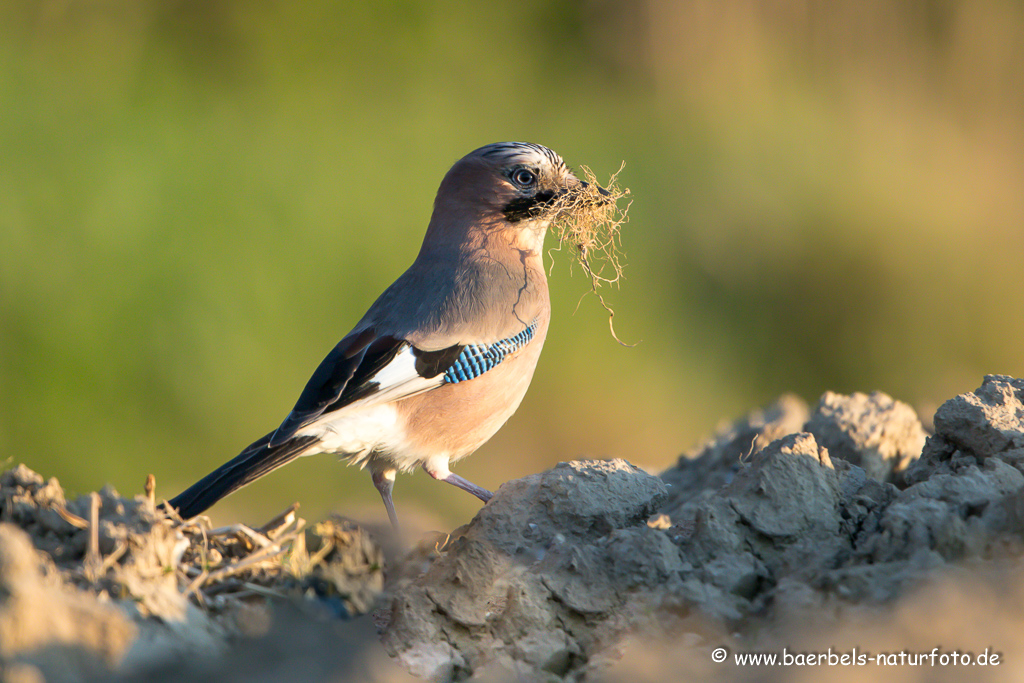
[[[763,680],[765,668],[713,664],[713,648],[878,653],[889,633],[898,652],[924,647],[926,622],[898,637],[921,612],[947,652],[987,647],[1008,664],[1024,655],[1008,629],[1024,621],[1018,598],[943,617],[930,605],[963,609],[958,587],[991,606],[990,587],[1022,568],[1024,380],[985,378],[935,427],[926,441],[914,412],[879,392],[828,393],[813,413],[784,397],[660,477],[591,461],[509,482],[394,589],[385,645],[440,679]]]

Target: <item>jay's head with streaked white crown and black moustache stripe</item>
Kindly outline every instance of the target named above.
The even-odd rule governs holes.
[[[456,162],[437,190],[431,231],[503,233],[540,252],[555,209],[566,196],[607,195],[580,180],[548,147],[495,142]]]

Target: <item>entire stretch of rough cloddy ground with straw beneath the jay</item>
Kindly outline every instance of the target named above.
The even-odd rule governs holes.
[[[213,529],[152,496],[69,502],[18,466],[0,680],[1021,680],[1024,380],[933,424],[784,396],[660,476],[561,463],[400,553],[294,510]],[[803,658],[733,658],[783,648]]]

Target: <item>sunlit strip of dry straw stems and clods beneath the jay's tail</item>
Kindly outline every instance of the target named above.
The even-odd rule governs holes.
[[[56,479],[18,465],[0,473],[0,522],[28,533],[58,583],[123,600],[143,617],[180,621],[186,600],[231,612],[267,596],[316,598],[354,615],[383,590],[383,551],[349,520],[307,528],[293,505],[263,526],[214,528],[158,503],[155,488],[151,475],[141,496],[108,486],[68,501]]]

